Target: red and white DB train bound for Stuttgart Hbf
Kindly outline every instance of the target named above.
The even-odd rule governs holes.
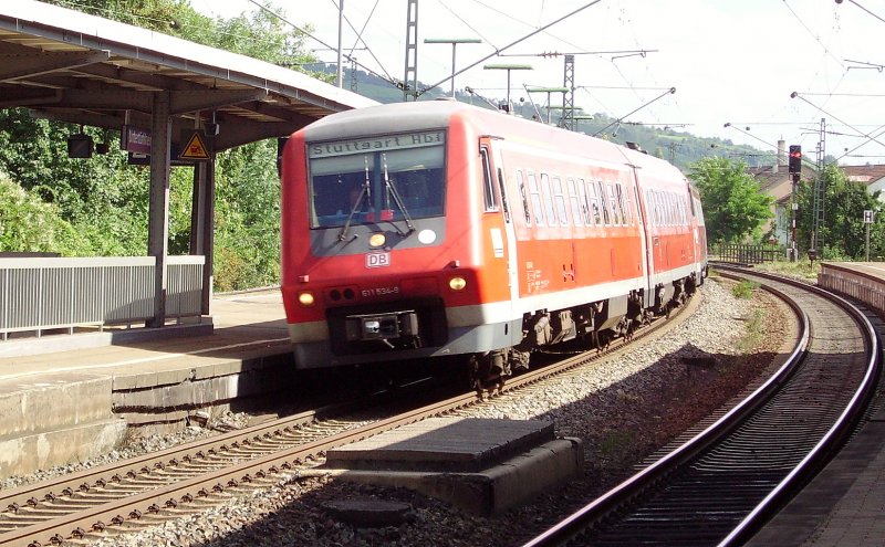
[[[603,345],[704,282],[695,189],[668,162],[450,101],[327,116],[282,156],[298,368]]]

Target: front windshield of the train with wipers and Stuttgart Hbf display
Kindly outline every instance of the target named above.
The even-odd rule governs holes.
[[[441,129],[309,144],[311,228],[442,215],[445,144]]]

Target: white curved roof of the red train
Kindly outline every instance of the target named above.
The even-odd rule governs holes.
[[[583,154],[603,161],[627,164],[646,172],[656,172],[663,178],[685,179],[681,171],[671,164],[648,154],[582,133],[451,99],[391,103],[355,108],[326,116],[302,132],[309,141],[337,140],[354,135],[408,133],[431,127],[447,127],[455,117],[472,119],[482,134],[523,141],[550,150],[562,151],[563,146],[574,147],[575,150],[582,150]]]

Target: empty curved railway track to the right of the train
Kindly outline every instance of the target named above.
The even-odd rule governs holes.
[[[524,547],[740,545],[851,434],[881,367],[863,313],[809,285],[719,271],[790,303],[802,324],[795,349],[733,409]]]

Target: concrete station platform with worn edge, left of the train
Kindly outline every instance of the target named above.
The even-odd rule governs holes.
[[[0,475],[104,454],[133,427],[178,429],[290,387],[279,290],[217,295],[211,311],[210,322],[0,341]]]

